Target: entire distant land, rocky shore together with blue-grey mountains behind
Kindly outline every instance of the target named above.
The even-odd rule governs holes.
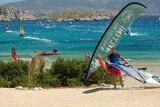
[[[0,6],[0,20],[103,20],[114,17],[130,0],[20,0]],[[160,15],[159,0],[148,3],[145,15]],[[155,8],[156,7],[156,8]]]

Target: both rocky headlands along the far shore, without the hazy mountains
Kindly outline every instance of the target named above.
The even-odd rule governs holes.
[[[97,10],[61,10],[52,13],[38,13],[26,11],[11,6],[0,6],[0,20],[53,20],[53,21],[70,21],[70,20],[104,20],[110,19],[117,14],[117,11],[107,9]]]

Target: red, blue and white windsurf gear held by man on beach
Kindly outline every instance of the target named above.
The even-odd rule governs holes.
[[[110,62],[104,62],[101,57],[97,57],[98,62],[100,64],[100,67],[106,71],[107,73],[113,74],[113,72],[110,72],[110,68],[115,68],[121,71],[120,75],[126,74],[137,81],[141,83],[149,83],[154,85],[160,85],[160,75],[156,73],[147,72],[145,70],[139,70],[131,65],[121,65],[121,64],[115,64]]]

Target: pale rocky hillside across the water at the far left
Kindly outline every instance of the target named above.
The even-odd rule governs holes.
[[[32,12],[24,11],[11,6],[0,6],[0,20],[34,20],[36,17]]]

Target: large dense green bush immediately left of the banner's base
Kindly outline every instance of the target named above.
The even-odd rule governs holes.
[[[53,63],[50,72],[52,75],[57,76],[61,86],[68,86],[67,81],[70,81],[70,79],[77,79],[83,83],[87,65],[88,64],[82,60],[64,60],[58,58],[56,62]]]

